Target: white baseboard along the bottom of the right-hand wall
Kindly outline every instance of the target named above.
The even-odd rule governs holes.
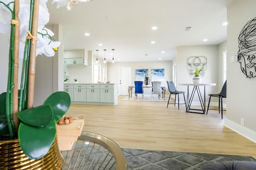
[[[241,126],[233,121],[230,121],[228,119],[224,120],[224,126],[231,129],[232,131],[235,131],[236,133],[242,135],[243,137],[246,137],[250,141],[256,143],[256,132],[252,131],[244,126]]]

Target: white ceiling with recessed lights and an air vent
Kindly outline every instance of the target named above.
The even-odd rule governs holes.
[[[227,26],[222,23],[233,1],[90,0],[79,2],[71,11],[57,9],[49,1],[47,7],[49,24],[63,27],[64,50],[86,49],[96,54],[98,49],[98,58],[103,59],[106,49],[107,62],[112,60],[112,49],[115,62],[170,61],[176,58],[177,46],[225,41]],[[152,30],[153,26],[158,29]],[[186,26],[192,29],[184,32]]]

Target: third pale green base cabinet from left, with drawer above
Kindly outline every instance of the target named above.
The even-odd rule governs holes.
[[[100,102],[100,84],[86,84],[86,102]]]

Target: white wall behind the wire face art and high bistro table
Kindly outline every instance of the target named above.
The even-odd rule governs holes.
[[[177,47],[176,52],[176,68],[177,68],[177,90],[187,92],[187,86],[180,86],[180,83],[193,83],[192,77],[188,72],[188,58],[192,56],[205,56],[207,59],[207,69],[202,77],[201,83],[216,83],[216,86],[206,86],[206,101],[209,97],[207,94],[218,92],[218,45],[205,45],[205,46],[182,46]],[[191,87],[192,88],[192,87]],[[200,87],[203,92],[203,86]],[[192,91],[192,89],[191,89]],[[186,94],[185,94],[186,96]],[[181,100],[182,99],[182,100]],[[183,98],[180,100],[183,101]],[[194,98],[194,103],[199,104],[197,96]],[[211,101],[217,101],[212,99]]]

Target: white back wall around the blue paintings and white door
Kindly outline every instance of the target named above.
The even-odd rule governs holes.
[[[161,86],[166,87],[166,94],[170,94],[168,92],[168,86],[166,80],[172,81],[172,61],[156,61],[156,62],[116,62],[116,63],[108,63],[108,81],[111,83],[118,84],[118,68],[119,67],[132,67],[132,86],[134,86],[135,81],[135,70],[136,69],[150,69],[150,68],[164,68],[164,82],[162,82]],[[150,80],[151,81],[151,80]],[[128,86],[127,86],[128,88]],[[145,89],[144,94],[151,95],[152,89]],[[127,92],[128,95],[128,92]],[[166,95],[167,96],[167,95]]]

